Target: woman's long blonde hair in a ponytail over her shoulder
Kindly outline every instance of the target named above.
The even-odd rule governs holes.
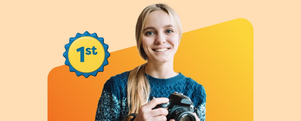
[[[141,12],[138,17],[137,24],[136,24],[136,41],[137,41],[137,48],[140,56],[147,60],[147,55],[143,50],[142,46],[142,37],[143,37],[143,29],[145,20],[149,13],[153,11],[160,11],[163,10],[167,14],[169,14],[170,20],[172,22],[173,27],[175,28],[175,32],[179,36],[179,42],[182,37],[182,26],[180,22],[180,18],[175,13],[175,11],[170,8],[168,5],[164,4],[153,4],[149,5]],[[147,78],[145,77],[145,67],[147,63],[144,63],[136,68],[134,68],[128,78],[128,85],[127,85],[127,101],[129,107],[129,113],[138,113],[140,107],[147,103],[151,87],[148,83]]]

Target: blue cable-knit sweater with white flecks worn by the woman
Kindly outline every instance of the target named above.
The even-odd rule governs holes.
[[[121,121],[129,113],[127,102],[127,81],[129,71],[111,77],[104,84],[98,101],[95,121]],[[158,79],[146,74],[150,83],[150,96],[168,98],[173,92],[188,96],[200,111],[200,120],[205,121],[206,93],[202,85],[179,73],[168,79]]]

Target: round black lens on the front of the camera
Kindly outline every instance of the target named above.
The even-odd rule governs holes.
[[[171,119],[175,119],[176,121],[195,121],[194,114],[186,108],[176,109],[172,112]]]

